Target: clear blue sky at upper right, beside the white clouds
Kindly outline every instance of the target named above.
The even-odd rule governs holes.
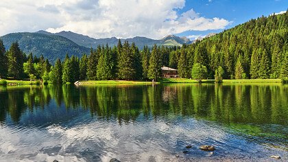
[[[178,14],[186,12],[193,8],[195,12],[208,18],[220,17],[231,21],[225,29],[245,23],[250,19],[256,19],[259,16],[269,16],[273,12],[278,13],[286,11],[288,8],[287,0],[188,0]],[[221,32],[223,30],[206,30],[206,31],[187,31],[178,36],[189,35],[206,35],[212,32]]]

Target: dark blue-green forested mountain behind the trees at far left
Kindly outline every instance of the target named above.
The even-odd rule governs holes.
[[[63,60],[66,54],[80,57],[83,53],[88,54],[90,51],[89,48],[77,45],[63,36],[49,35],[49,32],[45,34],[28,32],[12,33],[0,38],[3,40],[5,49],[7,50],[12,43],[18,41],[19,47],[26,54],[32,52],[36,56],[43,55],[51,62],[55,62],[57,58]]]

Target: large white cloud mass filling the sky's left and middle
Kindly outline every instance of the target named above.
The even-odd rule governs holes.
[[[94,38],[162,38],[188,30],[224,29],[230,22],[205,18],[193,9],[182,14],[184,0],[2,0],[0,35],[62,30]]]

